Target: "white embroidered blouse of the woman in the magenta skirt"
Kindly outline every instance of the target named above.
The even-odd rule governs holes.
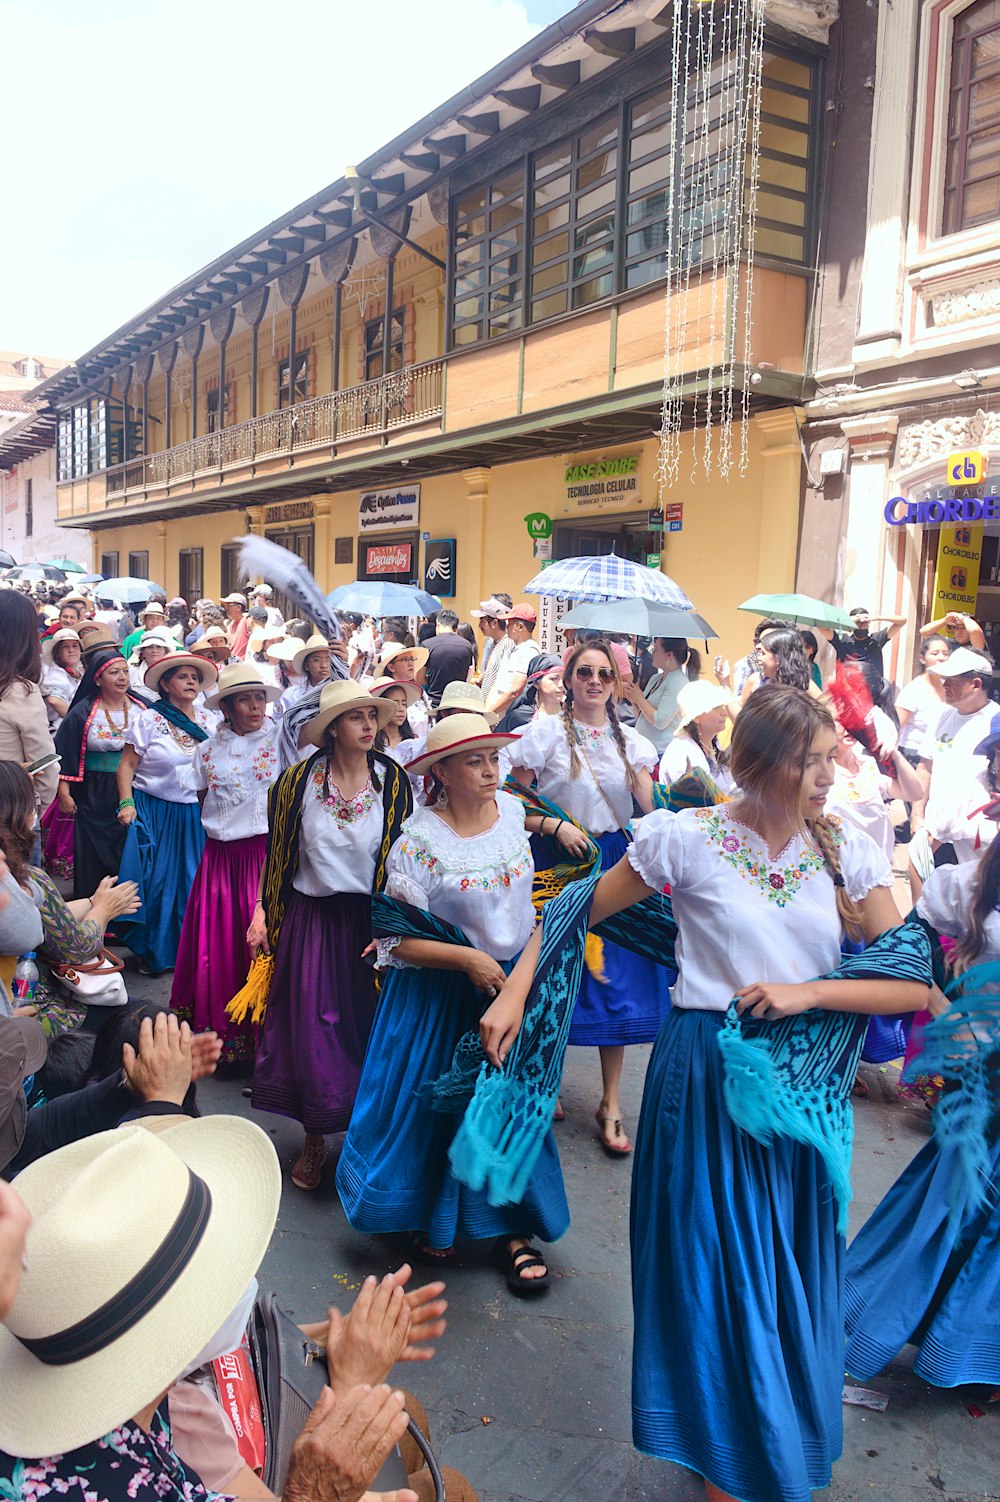
[[[198,745],[182,780],[206,793],[201,823],[210,840],[249,840],[267,834],[267,790],[279,772],[273,725],[237,736],[222,724]]]

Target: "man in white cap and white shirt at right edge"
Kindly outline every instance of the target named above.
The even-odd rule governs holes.
[[[950,844],[959,862],[971,861],[997,832],[992,820],[976,817],[992,799],[989,759],[976,754],[997,712],[988,694],[992,664],[980,652],[956,647],[934,671],[944,683],[947,709],[922,751],[931,774],[925,826],[935,849]]]

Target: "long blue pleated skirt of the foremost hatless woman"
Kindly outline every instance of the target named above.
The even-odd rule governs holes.
[[[841,1452],[842,1257],[814,1149],[730,1120],[722,1012],[671,1011],[632,1172],[632,1434],[740,1502],[811,1502]]]

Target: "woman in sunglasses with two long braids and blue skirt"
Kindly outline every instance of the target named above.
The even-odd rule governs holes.
[[[571,652],[563,673],[560,715],[539,715],[512,748],[512,777],[535,784],[575,825],[544,819],[541,834],[554,835],[571,855],[586,855],[587,837],[601,849],[604,870],[622,859],[629,844],[635,804],[653,807],[658,756],[637,730],[622,725],[614,709],[622,694],[617,664],[607,641],[587,641]],[[541,853],[539,853],[541,856]],[[536,864],[542,865],[541,858]],[[571,1044],[601,1050],[604,1093],[598,1126],[605,1152],[632,1151],[622,1128],[619,1096],[625,1044],[652,1042],[670,1009],[668,972],[604,943],[599,973],[587,970],[569,1032]]]

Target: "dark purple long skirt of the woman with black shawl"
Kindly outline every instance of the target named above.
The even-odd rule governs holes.
[[[293,891],[267,1014],[257,1044],[251,1102],[291,1116],[317,1137],[345,1131],[375,1015],[371,897]]]

